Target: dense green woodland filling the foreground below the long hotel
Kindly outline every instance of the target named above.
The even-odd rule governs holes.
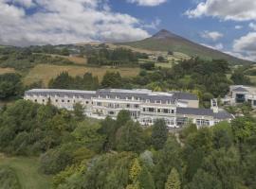
[[[129,112],[98,121],[82,111],[79,104],[67,112],[19,100],[0,112],[0,151],[40,156],[39,171],[54,176],[56,189],[256,187],[255,118],[189,124],[174,135],[163,120],[142,128]],[[11,170],[1,171],[11,180]]]

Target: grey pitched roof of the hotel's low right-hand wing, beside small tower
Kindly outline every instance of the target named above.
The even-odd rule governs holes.
[[[195,109],[195,108],[177,108],[177,114],[187,114],[187,115],[203,115],[203,116],[212,116],[213,111],[210,109]]]

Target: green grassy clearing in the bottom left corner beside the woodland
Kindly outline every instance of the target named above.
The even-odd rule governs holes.
[[[39,162],[36,158],[6,157],[0,154],[0,165],[14,171],[23,189],[50,188],[51,177],[38,172]]]

